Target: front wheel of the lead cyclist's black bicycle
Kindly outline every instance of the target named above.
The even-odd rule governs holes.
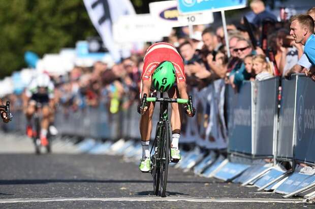
[[[162,127],[162,138],[160,146],[160,184],[161,184],[161,197],[165,197],[167,186],[168,166],[170,159],[170,132],[169,122],[165,122]]]

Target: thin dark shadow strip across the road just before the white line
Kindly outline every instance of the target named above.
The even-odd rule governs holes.
[[[0,180],[0,185],[49,184],[49,183],[152,183],[151,180],[92,180],[92,179],[21,179]],[[211,184],[224,183],[216,181],[168,181],[171,184]]]

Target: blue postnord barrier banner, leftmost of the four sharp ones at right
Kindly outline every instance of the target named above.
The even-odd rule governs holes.
[[[229,152],[251,154],[251,83],[244,82],[239,92],[226,86]]]

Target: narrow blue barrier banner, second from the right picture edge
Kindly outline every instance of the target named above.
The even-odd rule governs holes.
[[[277,158],[292,159],[296,76],[291,80],[283,79],[281,89]]]

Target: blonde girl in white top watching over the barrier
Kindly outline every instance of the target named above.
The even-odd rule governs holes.
[[[273,77],[272,67],[266,60],[265,55],[253,57],[253,69],[256,74],[256,81],[262,81]]]

